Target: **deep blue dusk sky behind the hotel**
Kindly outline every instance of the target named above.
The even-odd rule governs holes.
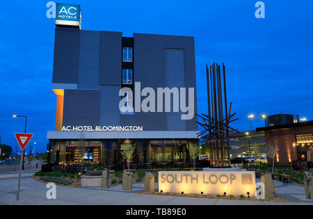
[[[312,120],[313,2],[264,1],[266,18],[255,18],[257,0],[71,1],[82,10],[82,29],[195,37],[198,112],[207,113],[205,65],[224,62],[227,99],[239,121],[261,127],[262,113],[294,113]],[[0,134],[13,146],[14,132],[28,133],[45,151],[54,130],[56,95],[51,90],[54,19],[47,1],[0,2]]]

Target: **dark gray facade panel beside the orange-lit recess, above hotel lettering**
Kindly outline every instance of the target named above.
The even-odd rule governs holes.
[[[99,125],[100,90],[64,90],[63,125]]]

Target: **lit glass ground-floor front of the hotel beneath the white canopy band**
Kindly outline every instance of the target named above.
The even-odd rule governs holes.
[[[125,145],[136,145],[132,165],[145,163],[187,163],[188,148],[195,139],[84,139],[50,140],[50,163],[66,166],[124,165],[122,149]]]

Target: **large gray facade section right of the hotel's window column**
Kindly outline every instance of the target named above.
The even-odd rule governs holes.
[[[135,81],[141,81],[141,89],[147,86],[154,89],[157,87],[195,88],[193,48],[194,40],[190,37],[135,33]],[[196,94],[194,99],[196,113]],[[181,120],[181,112],[135,114],[147,118],[146,120],[149,121],[146,125],[147,130],[198,130],[196,117],[194,116],[193,120]]]

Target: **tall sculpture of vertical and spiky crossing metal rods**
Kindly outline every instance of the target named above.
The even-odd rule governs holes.
[[[223,88],[222,88],[223,84]],[[222,92],[223,89],[223,92]],[[224,103],[223,103],[224,95]],[[220,65],[213,63],[210,69],[207,67],[207,107],[208,115],[198,115],[203,123],[197,122],[204,131],[197,133],[201,136],[200,143],[209,143],[210,164],[215,167],[230,167],[230,143],[229,140],[234,138],[238,129],[229,126],[230,122],[234,122],[239,118],[232,119],[236,113],[232,113],[232,103],[230,110],[227,111],[227,95],[226,95],[226,77],[225,65],[223,63],[223,81],[221,79]],[[223,111],[225,110],[225,114]],[[227,152],[227,153],[226,153]],[[226,159],[226,156],[227,158]],[[215,161],[213,163],[213,161]]]

